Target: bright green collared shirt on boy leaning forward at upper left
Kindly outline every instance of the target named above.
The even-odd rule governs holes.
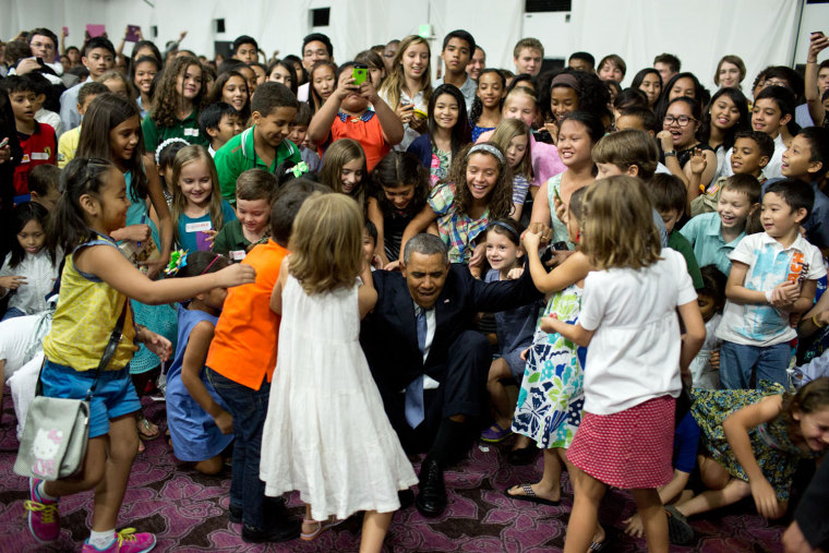
[[[265,165],[262,158],[256,155],[256,151],[253,147],[253,133],[255,129],[255,125],[245,129],[241,134],[237,134],[227,141],[213,158],[216,164],[216,172],[219,176],[221,196],[230,205],[236,205],[236,179],[242,172],[248,169],[264,169],[273,173],[276,172],[276,168],[286,159],[290,159],[296,164],[302,161],[299,148],[291,141],[285,139],[276,148],[274,161],[269,167]]]

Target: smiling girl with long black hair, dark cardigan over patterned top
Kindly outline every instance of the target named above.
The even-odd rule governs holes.
[[[429,101],[429,133],[414,139],[407,152],[429,168],[434,187],[446,178],[453,157],[470,141],[464,95],[457,86],[442,84]]]

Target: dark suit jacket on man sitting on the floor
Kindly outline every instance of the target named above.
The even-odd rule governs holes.
[[[469,267],[453,264],[435,303],[435,333],[425,363],[418,347],[414,302],[397,272],[373,273],[377,303],[363,323],[360,341],[382,394],[398,393],[421,374],[443,378],[449,348],[479,312],[497,312],[541,298],[529,271],[517,280],[484,282]]]

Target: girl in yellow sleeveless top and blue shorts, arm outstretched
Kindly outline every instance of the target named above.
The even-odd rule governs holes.
[[[235,264],[193,278],[149,280],[110,238],[113,230],[123,228],[130,207],[123,175],[116,166],[104,159],[73,159],[63,169],[61,189],[64,192],[52,214],[49,240],[70,254],[52,328],[44,340],[46,363],[40,380],[45,396],[86,396],[116,321],[122,310],[130,309],[128,297],[148,304],[169,303],[213,288],[252,282],[255,277],[250,265]],[[29,529],[38,541],[53,541],[60,534],[58,497],[94,489],[92,534],[84,552],[139,553],[155,545],[153,534],[115,531],[139,446],[133,413],[140,404],[129,369],[139,341],[163,360],[170,356],[170,342],[136,326],[128,312],[121,341],[89,401],[89,443],[83,471],[71,480],[29,482],[26,509]]]

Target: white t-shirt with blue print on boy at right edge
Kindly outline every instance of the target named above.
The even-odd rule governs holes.
[[[795,254],[798,260],[794,259]],[[808,271],[804,274],[807,280],[826,275],[820,250],[800,235],[785,250],[766,232],[749,235],[740,241],[729,257],[748,265],[743,286],[749,290],[772,290],[801,262],[808,263]],[[796,338],[797,332],[789,324],[789,314],[771,305],[741,305],[726,300],[717,337],[744,346],[767,347]]]

